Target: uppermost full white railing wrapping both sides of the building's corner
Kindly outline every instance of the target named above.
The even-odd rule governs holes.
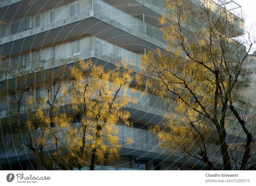
[[[0,26],[0,44],[42,33],[89,17],[99,19],[158,47],[166,47],[163,32],[100,0],[78,0]]]

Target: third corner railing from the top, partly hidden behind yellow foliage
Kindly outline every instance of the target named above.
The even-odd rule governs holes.
[[[109,82],[111,83],[111,82]],[[71,87],[71,83],[64,83],[61,85],[60,90],[58,92],[56,92],[56,90],[58,90],[59,85],[53,86],[50,90],[50,95],[56,95],[56,99],[57,102],[55,103],[56,105],[69,105],[72,104],[72,97],[70,96],[66,96],[65,98],[62,98],[62,87]],[[124,94],[124,90],[122,89],[119,92],[120,96]],[[131,98],[135,98],[137,101],[136,103],[128,103],[126,105],[127,108],[131,108],[131,109],[135,109],[138,111],[142,111],[142,112],[147,112],[147,113],[151,113],[151,114],[155,114],[155,115],[159,115],[159,116],[163,116],[164,114],[168,114],[168,113],[176,113],[176,117],[180,118],[180,115],[177,113],[177,111],[174,109],[176,107],[179,106],[178,102],[172,101],[172,100],[168,100],[153,94],[149,94],[149,93],[145,93],[139,90],[135,90],[132,88],[128,88],[125,91],[125,94],[128,97]],[[21,95],[20,97],[17,97],[16,95],[13,96],[9,96],[9,97],[4,97],[0,99],[0,118],[6,118],[9,117],[11,115],[14,114],[24,114],[26,112],[34,112],[36,111],[36,107],[38,105],[34,104],[34,105],[27,105],[27,98],[28,97],[32,97],[33,99],[39,98],[39,97],[47,97],[48,96],[48,89],[44,88],[44,89],[37,89],[34,91],[29,91],[29,92],[25,92],[24,94]],[[17,105],[16,105],[16,100],[20,99],[20,106],[19,106],[19,110],[20,113],[16,113],[17,112]],[[50,108],[50,106],[49,106]],[[229,118],[226,118],[227,120],[227,133],[232,134],[232,135],[236,135],[238,136],[244,136],[242,134],[240,134],[240,131],[242,131],[241,127],[239,127],[239,125],[237,125],[236,120],[232,120]]]

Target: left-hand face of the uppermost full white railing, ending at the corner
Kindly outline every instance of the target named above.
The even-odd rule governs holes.
[[[11,42],[29,35],[35,35],[56,27],[64,26],[66,24],[91,17],[90,2],[91,0],[79,1],[79,6],[77,1],[72,2],[45,12],[1,25],[0,43]]]

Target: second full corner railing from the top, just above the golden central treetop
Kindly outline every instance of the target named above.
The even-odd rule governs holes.
[[[135,72],[139,72],[139,54],[95,36],[90,36],[1,61],[1,80],[67,65],[88,58],[97,58],[114,65],[121,60],[127,60],[128,68],[133,68]]]

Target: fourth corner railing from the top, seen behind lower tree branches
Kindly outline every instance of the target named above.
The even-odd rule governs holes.
[[[74,123],[75,127],[80,126],[81,123]],[[167,149],[161,148],[161,142],[157,139],[157,136],[152,131],[138,129],[138,128],[132,128],[128,126],[122,126],[122,125],[116,125],[118,129],[119,136],[119,146],[121,148],[126,149],[132,149],[132,150],[139,150],[144,151],[148,153],[161,153],[166,155],[172,155],[172,156],[180,156],[177,151],[172,150],[171,153],[167,151]],[[67,133],[68,129],[61,130],[63,134]],[[40,136],[40,130],[32,131],[33,136]],[[77,134],[79,135],[79,134]],[[66,147],[66,144],[68,143],[67,140],[65,140],[65,136],[61,135],[60,145],[61,147]],[[127,143],[126,138],[131,138],[132,143]],[[25,145],[28,143],[33,143],[29,141],[30,138],[27,134],[16,134],[12,136],[6,136],[3,138],[1,146],[4,148],[1,148],[0,151],[0,159],[4,158],[11,158],[15,156],[21,156],[21,155],[27,155],[31,154],[32,151],[29,150],[29,148]],[[87,141],[86,143],[90,144],[90,141]],[[108,142],[105,141],[105,144],[108,145]],[[215,163],[222,163],[222,156],[220,153],[220,147],[217,145],[212,144],[206,144],[206,147],[208,150],[208,156],[210,157],[210,160]],[[54,151],[55,144],[51,142],[51,140],[46,141],[44,143],[43,151]],[[230,149],[230,152],[233,156],[233,159],[240,160],[240,157],[242,157],[243,152],[242,151],[236,151],[233,149]],[[233,162],[233,160],[231,160]],[[236,162],[236,161],[235,161]]]

